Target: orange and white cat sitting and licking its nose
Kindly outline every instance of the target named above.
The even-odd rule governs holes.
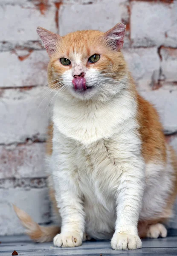
[[[47,142],[55,221],[41,227],[15,211],[35,241],[75,247],[111,239],[116,250],[166,237],[177,195],[177,158],[157,111],[136,90],[121,48],[125,25],[63,37],[38,27],[49,87],[57,93]]]

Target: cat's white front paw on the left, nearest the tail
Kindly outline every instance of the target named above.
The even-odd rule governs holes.
[[[78,233],[60,233],[53,239],[53,244],[57,247],[75,247],[82,244],[82,238]]]

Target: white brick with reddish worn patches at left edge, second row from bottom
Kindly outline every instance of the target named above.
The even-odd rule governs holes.
[[[45,177],[45,143],[0,146],[0,179]]]

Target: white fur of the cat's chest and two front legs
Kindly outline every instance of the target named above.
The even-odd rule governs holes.
[[[144,162],[135,114],[129,90],[107,103],[55,102],[51,163],[62,216],[60,242],[55,239],[55,245],[66,233],[83,237],[85,230],[91,237],[106,239],[115,230],[115,236],[124,234],[123,239],[130,233],[134,249],[139,247]]]

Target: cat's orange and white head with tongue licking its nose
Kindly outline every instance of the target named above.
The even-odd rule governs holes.
[[[58,95],[107,100],[125,86],[126,63],[120,51],[124,24],[105,33],[85,30],[61,37],[41,27],[37,33],[50,58],[49,87]]]

